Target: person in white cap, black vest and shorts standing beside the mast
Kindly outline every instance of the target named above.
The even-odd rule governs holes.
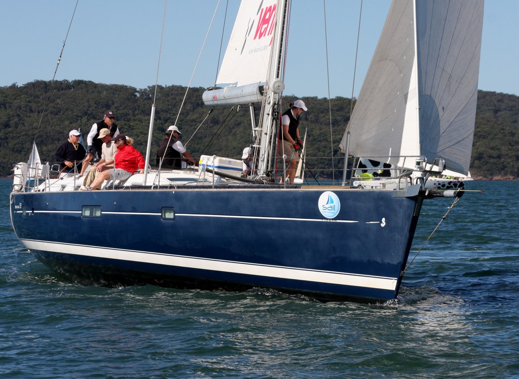
[[[289,184],[294,184],[295,168],[299,162],[299,150],[303,148],[303,143],[299,137],[299,115],[308,109],[303,100],[296,100],[291,107],[283,113],[281,117],[281,130],[279,133],[278,155],[286,155],[286,171],[281,176],[282,184],[286,178]]]

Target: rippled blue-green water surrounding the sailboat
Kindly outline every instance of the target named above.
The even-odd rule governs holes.
[[[37,262],[0,179],[2,378],[519,377],[519,182],[474,181],[397,301],[85,287]],[[452,201],[422,212],[414,256]]]

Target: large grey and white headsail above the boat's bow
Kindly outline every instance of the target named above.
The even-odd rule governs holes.
[[[483,0],[393,1],[351,115],[350,154],[443,158],[467,174],[482,28]]]

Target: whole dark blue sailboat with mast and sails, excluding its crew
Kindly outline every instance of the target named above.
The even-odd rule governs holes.
[[[37,259],[87,285],[394,299],[422,203],[438,195],[424,182],[446,165],[468,171],[482,15],[483,1],[393,2],[341,147],[346,163],[366,157],[405,168],[394,188],[353,185],[357,168],[346,164],[335,186],[272,177],[290,6],[245,0],[203,100],[250,107],[254,177],[237,179],[236,162],[213,155],[198,168],[147,167],[104,190],[78,191],[74,175],[26,186],[17,165],[12,226]]]

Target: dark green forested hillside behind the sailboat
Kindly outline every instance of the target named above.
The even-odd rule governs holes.
[[[28,160],[34,140],[42,161],[52,162],[54,152],[71,129],[80,129],[86,139],[92,123],[101,120],[107,109],[115,113],[121,133],[132,137],[135,147],[144,154],[154,89],[80,80],[35,81],[0,87],[0,176],[10,175],[13,163]],[[167,127],[175,123],[183,133],[184,144],[198,128],[186,146],[195,157],[201,154],[240,157],[251,141],[249,110],[215,109],[208,115],[210,108],[201,101],[203,90],[188,91],[179,115],[186,88],[158,87],[152,157]],[[283,110],[295,99],[285,96]],[[324,166],[319,171],[321,176],[331,177],[332,165],[336,177],[342,175],[342,154],[333,159],[332,155],[349,120],[350,99],[337,97],[330,102],[317,97],[302,99],[308,107],[300,129],[301,134],[308,129],[306,163],[311,169]],[[473,176],[519,177],[518,119],[519,97],[479,92],[471,161]]]

